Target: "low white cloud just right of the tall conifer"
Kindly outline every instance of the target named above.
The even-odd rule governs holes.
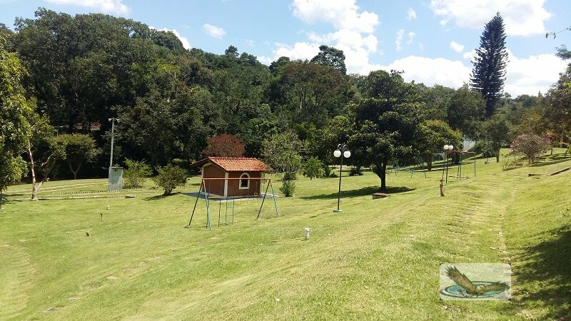
[[[517,58],[508,50],[510,61],[506,66],[504,91],[512,96],[523,93],[537,95],[546,93],[557,81],[559,73],[565,71],[567,63],[553,54],[540,54],[527,58]]]

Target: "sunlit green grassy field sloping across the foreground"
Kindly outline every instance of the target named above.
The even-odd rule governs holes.
[[[344,176],[335,214],[338,180],[302,178],[278,198],[279,218],[269,202],[255,221],[261,202],[241,201],[218,227],[211,203],[211,231],[203,200],[184,228],[195,198],[151,185],[49,182],[38,202],[13,186],[0,211],[0,320],[569,320],[571,170],[549,174],[571,161],[551,160],[509,171],[478,160],[444,198],[440,170],[391,173],[377,200],[376,175]],[[178,191],[196,190],[191,178]],[[440,263],[510,263],[512,300],[440,300]]]

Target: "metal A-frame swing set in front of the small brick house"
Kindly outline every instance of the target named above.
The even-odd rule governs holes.
[[[198,199],[204,197],[204,201],[206,203],[206,228],[208,230],[212,230],[211,224],[211,202],[218,202],[218,226],[221,225],[221,215],[222,215],[222,202],[225,203],[225,210],[224,210],[224,225],[232,225],[234,223],[234,208],[236,205],[236,200],[248,200],[251,198],[260,198],[258,193],[254,193],[254,195],[246,195],[246,196],[228,196],[225,197],[223,195],[216,195],[214,193],[210,193],[209,191],[212,190],[212,184],[220,182],[221,186],[225,183],[228,183],[228,180],[258,180],[261,183],[261,187],[266,185],[266,191],[263,193],[262,203],[260,205],[260,210],[258,210],[258,216],[255,220],[260,218],[260,214],[262,213],[263,203],[268,197],[268,190],[271,189],[271,198],[273,198],[273,205],[276,208],[276,217],[280,217],[280,213],[278,212],[278,203],[276,202],[276,194],[273,192],[273,184],[271,178],[203,178],[201,181],[201,186],[198,188],[198,195],[196,195],[196,201],[194,202],[194,207],[191,213],[191,220],[188,221],[188,225],[185,228],[190,228],[192,219],[194,217],[194,212],[196,211],[196,205],[198,204]],[[268,182],[267,184],[265,182]],[[262,185],[263,184],[263,185]],[[248,184],[249,185],[249,184]]]

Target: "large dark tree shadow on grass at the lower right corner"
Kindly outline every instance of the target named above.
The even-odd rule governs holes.
[[[519,293],[515,299],[525,302],[541,302],[548,307],[547,315],[536,316],[540,319],[555,320],[558,317],[571,317],[571,225],[565,228],[550,230],[544,235],[557,235],[555,240],[545,240],[537,245],[530,245],[517,258],[524,262],[515,269],[517,283],[532,285]],[[517,288],[517,284],[515,285]],[[510,305],[508,309],[517,309],[519,305]],[[524,305],[525,306],[525,305]]]

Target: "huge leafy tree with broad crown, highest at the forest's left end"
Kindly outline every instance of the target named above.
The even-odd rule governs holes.
[[[104,14],[57,14],[40,8],[18,18],[12,37],[29,66],[39,106],[68,132],[99,123],[111,106],[132,104],[146,90],[154,58],[168,49],[150,40],[145,24]],[[77,126],[81,125],[81,126]]]

